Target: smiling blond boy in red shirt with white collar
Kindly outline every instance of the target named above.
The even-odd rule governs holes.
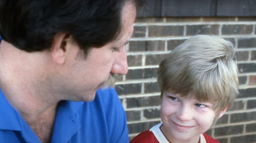
[[[130,143],[219,143],[206,132],[238,94],[234,46],[222,38],[197,35],[175,48],[161,63],[162,123]]]

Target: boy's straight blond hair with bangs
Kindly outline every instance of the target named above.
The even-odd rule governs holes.
[[[197,35],[175,48],[161,63],[158,84],[163,91],[192,93],[214,105],[216,116],[231,107],[238,94],[235,49],[230,41]],[[189,97],[188,97],[189,98]]]

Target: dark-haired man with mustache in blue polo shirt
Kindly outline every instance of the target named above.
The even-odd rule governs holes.
[[[127,73],[135,16],[134,0],[2,0],[0,142],[128,143],[115,89],[99,88]]]

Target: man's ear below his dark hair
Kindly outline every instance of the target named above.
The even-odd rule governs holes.
[[[52,46],[51,56],[57,64],[63,64],[67,55],[67,42],[71,41],[70,34],[59,32],[55,34]]]

